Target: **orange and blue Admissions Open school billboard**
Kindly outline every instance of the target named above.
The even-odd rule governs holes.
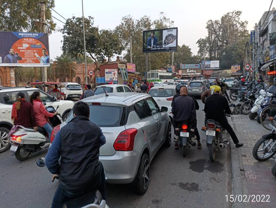
[[[0,32],[0,66],[50,66],[47,33]]]

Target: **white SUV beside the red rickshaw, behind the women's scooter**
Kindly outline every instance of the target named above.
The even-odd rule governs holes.
[[[62,83],[61,92],[65,94],[65,98],[80,98],[83,94],[81,85],[76,82],[64,82]]]

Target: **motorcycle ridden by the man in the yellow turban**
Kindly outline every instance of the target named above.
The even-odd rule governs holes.
[[[230,117],[230,115],[226,115]],[[206,141],[208,146],[209,158],[210,161],[214,161],[216,159],[216,152],[219,151],[219,148],[225,148],[227,142],[223,141],[227,138],[228,132],[225,134],[225,129],[221,127],[220,123],[208,119],[206,124],[201,129],[202,131],[206,131]]]

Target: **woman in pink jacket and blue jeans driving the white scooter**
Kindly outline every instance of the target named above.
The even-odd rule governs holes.
[[[34,106],[36,124],[37,126],[40,126],[43,129],[45,129],[50,138],[53,128],[48,123],[47,119],[48,117],[53,117],[54,115],[57,115],[57,112],[49,113],[40,99],[41,97],[39,91],[34,91],[30,96],[30,102]]]

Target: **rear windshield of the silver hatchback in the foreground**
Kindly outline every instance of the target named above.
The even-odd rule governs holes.
[[[121,106],[104,106],[104,105],[89,105],[90,116],[89,120],[97,124],[99,127],[117,127],[122,124],[122,115],[124,107]],[[66,119],[66,123],[73,119],[73,111]]]

